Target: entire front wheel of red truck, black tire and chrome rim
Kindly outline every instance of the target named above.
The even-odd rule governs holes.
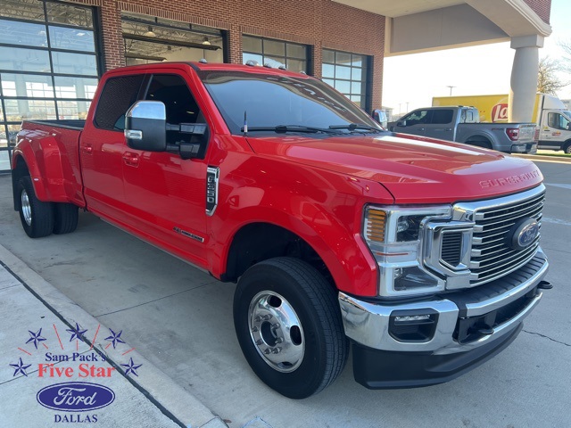
[[[323,390],[347,361],[336,292],[299,259],[269,259],[249,268],[236,287],[234,324],[253,372],[290,399]]]

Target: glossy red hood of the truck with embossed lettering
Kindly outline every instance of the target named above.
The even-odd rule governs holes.
[[[473,201],[542,182],[531,161],[405,134],[247,137],[253,152],[376,181],[396,203]],[[421,184],[421,185],[420,185]]]

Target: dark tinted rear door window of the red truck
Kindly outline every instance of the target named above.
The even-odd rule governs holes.
[[[137,74],[107,80],[97,103],[95,127],[123,132],[125,113],[137,101],[143,78],[144,75]]]

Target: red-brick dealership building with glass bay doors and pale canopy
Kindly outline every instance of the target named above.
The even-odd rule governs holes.
[[[549,15],[550,0],[0,0],[0,170],[22,119],[85,118],[115,67],[283,64],[371,111],[386,55],[509,39],[536,49]]]

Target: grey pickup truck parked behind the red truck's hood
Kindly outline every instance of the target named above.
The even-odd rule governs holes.
[[[475,107],[426,107],[410,111],[389,126],[394,132],[429,136],[506,153],[537,152],[538,129],[534,123],[480,122]]]

